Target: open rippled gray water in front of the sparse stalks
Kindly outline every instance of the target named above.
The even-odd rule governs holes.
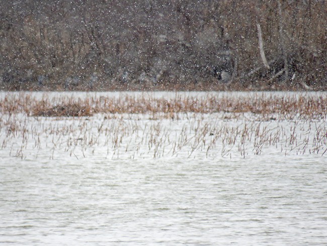
[[[325,158],[0,165],[5,245],[323,245]]]

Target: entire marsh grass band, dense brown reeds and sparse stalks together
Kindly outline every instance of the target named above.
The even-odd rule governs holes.
[[[6,96],[0,150],[10,156],[213,158],[326,153],[324,96]]]

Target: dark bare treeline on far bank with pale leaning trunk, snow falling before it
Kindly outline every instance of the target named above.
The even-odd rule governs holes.
[[[325,5],[1,0],[0,86],[325,89]]]

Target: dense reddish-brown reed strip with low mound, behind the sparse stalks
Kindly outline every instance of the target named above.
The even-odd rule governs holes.
[[[145,96],[121,95],[119,97],[91,96],[76,98],[58,96],[40,99],[30,94],[7,95],[0,99],[1,113],[22,113],[29,116],[92,116],[95,113],[254,113],[267,116],[293,118],[325,117],[326,96],[263,96],[227,97],[208,94],[204,97],[176,95],[173,98],[151,98]]]

